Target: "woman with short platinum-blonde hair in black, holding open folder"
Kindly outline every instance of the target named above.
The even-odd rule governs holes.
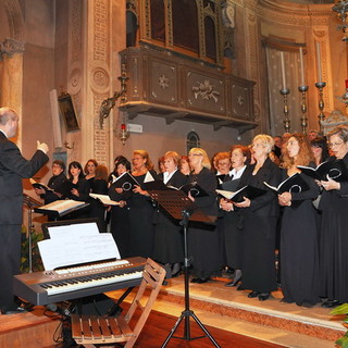
[[[240,186],[264,189],[263,182],[279,184],[278,166],[269,158],[274,140],[269,135],[257,135],[251,152],[256,163],[246,169]],[[248,297],[264,301],[277,289],[275,272],[275,232],[278,216],[276,195],[271,189],[253,199],[235,203],[244,216],[244,258],[241,288],[252,290]]]

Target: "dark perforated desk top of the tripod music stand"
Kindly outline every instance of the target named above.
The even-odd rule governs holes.
[[[148,190],[149,195],[175,220],[183,220],[183,211],[190,213],[189,220],[213,224],[215,216],[206,215],[198,209],[192,209],[192,201],[181,190]]]

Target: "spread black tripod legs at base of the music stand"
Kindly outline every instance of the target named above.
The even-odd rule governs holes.
[[[198,337],[190,336],[190,322],[189,322],[190,318],[192,318],[195,320],[195,322],[198,324],[198,326],[203,331],[203,333],[206,335],[198,336]],[[173,336],[184,319],[185,319],[184,336],[183,337]],[[204,327],[204,325],[200,322],[200,320],[197,318],[197,315],[194,313],[194,311],[185,310],[182,312],[182,315],[177,319],[175,325],[173,326],[171,333],[165,338],[161,348],[165,347],[171,338],[192,340],[192,339],[199,339],[199,338],[204,338],[204,337],[208,337],[215,347],[220,348],[220,346],[217,345],[215,339],[211,336],[211,334],[208,332],[208,330]]]

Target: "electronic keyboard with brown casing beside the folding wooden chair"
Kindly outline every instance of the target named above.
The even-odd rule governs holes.
[[[141,282],[144,258],[95,263],[59,271],[14,276],[14,294],[36,306],[44,306],[137,286]]]

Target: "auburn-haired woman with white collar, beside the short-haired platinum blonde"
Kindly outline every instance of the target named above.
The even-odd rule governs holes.
[[[246,163],[250,161],[250,150],[246,146],[236,145],[231,151],[232,179],[223,183],[222,189],[235,191],[240,183],[240,178],[247,167]],[[234,278],[225,286],[236,286],[241,281],[243,270],[243,219],[240,210],[225,199],[220,199],[220,208],[223,210],[223,238],[224,253],[226,264],[234,269]]]

